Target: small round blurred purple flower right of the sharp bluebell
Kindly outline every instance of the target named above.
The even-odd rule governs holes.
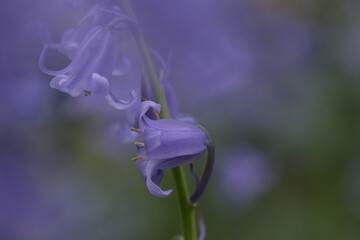
[[[219,186],[223,196],[231,202],[248,205],[273,185],[274,169],[262,154],[237,150],[224,159]]]

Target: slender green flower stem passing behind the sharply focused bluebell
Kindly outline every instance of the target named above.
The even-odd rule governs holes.
[[[131,8],[129,1],[128,0],[120,0],[120,4],[121,4],[123,10],[126,12],[126,14],[128,14],[131,18],[133,18],[134,21],[136,21],[135,14]],[[144,61],[145,71],[150,80],[150,84],[151,84],[151,88],[154,92],[155,100],[161,104],[160,118],[170,118],[170,112],[169,112],[165,92],[159,82],[158,74],[156,73],[154,64],[150,57],[150,53],[147,48],[147,45],[146,45],[143,35],[140,33],[136,34],[135,41],[141,52],[141,55],[142,55],[142,58]],[[183,231],[184,231],[184,238],[185,238],[185,240],[196,240],[197,239],[197,223],[196,223],[196,216],[195,216],[195,207],[192,206],[189,202],[189,191],[187,188],[184,171],[181,167],[177,167],[172,170],[172,173],[174,176],[178,200],[179,200],[179,206],[180,206],[180,212],[181,212],[181,218],[182,218],[182,224],[183,224]]]

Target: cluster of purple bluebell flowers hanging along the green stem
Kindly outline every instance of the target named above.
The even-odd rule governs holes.
[[[127,109],[138,100],[135,91],[130,93],[130,100],[120,100],[115,96],[110,82],[116,78],[117,72],[123,71],[119,69],[122,59],[120,46],[123,40],[119,33],[128,31],[137,35],[139,34],[137,28],[136,20],[126,15],[119,6],[109,1],[98,3],[86,12],[76,27],[63,34],[59,43],[53,43],[49,37],[47,38],[40,55],[40,69],[54,76],[50,82],[52,88],[73,97],[82,93],[86,96],[92,93],[98,94],[104,96],[116,109]],[[148,48],[146,50],[148,52],[144,54],[142,47],[144,46],[140,44],[139,52],[143,51],[141,55],[144,57],[144,69],[152,58],[157,63],[151,64],[154,65],[154,74],[157,75],[158,83],[155,85],[153,82],[150,83],[154,79],[150,79],[151,77],[146,76],[145,73],[142,79],[126,79],[126,81],[136,81],[137,85],[142,86],[143,101],[139,104],[137,121],[128,132],[132,131],[133,135],[135,132],[138,156],[133,160],[136,161],[147,188],[155,196],[166,197],[172,190],[164,191],[158,186],[163,170],[188,165],[198,159],[208,149],[208,135],[194,121],[175,119],[176,100],[167,81],[170,67],[156,51]],[[69,65],[61,70],[47,68],[45,59],[50,49],[55,49],[68,57]],[[157,71],[156,68],[160,70]],[[159,90],[156,88],[164,91],[162,101],[169,106],[167,110],[171,118],[159,118],[161,105],[156,103],[160,101],[155,94]],[[196,204],[208,182],[212,164],[207,166],[211,167],[208,167],[207,173],[203,174],[205,178],[201,183],[192,171],[197,181],[195,194],[189,199],[192,204]]]

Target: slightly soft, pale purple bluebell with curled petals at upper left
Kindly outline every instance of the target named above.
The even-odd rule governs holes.
[[[104,11],[104,16],[97,16]],[[80,22],[84,27],[67,31],[60,44],[45,45],[39,65],[44,73],[55,76],[50,86],[73,97],[82,93],[103,95],[116,109],[130,107],[136,101],[135,91],[130,93],[129,101],[119,100],[110,90],[109,83],[118,61],[119,42],[116,32],[124,18],[116,9],[95,8]],[[69,57],[70,64],[57,71],[48,69],[44,61],[50,48]]]

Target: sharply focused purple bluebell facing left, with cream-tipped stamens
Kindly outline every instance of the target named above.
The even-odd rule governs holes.
[[[162,190],[163,170],[190,164],[206,150],[207,136],[196,125],[175,119],[152,119],[160,113],[160,104],[144,101],[140,107],[137,145],[137,168],[149,191],[166,197],[172,190]],[[155,111],[155,112],[153,112]]]

